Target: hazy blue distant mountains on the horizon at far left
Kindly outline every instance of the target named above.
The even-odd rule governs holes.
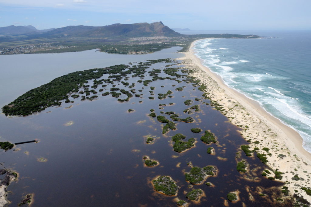
[[[47,32],[53,29],[55,28],[37,30],[34,26],[31,26],[31,25],[28,25],[28,26],[11,25],[11,26],[0,27],[0,35],[22,35],[22,34],[31,34],[31,33],[42,33],[42,32]]]

